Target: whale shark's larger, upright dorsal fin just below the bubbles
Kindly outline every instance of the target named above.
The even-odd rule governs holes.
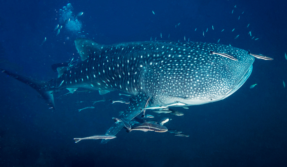
[[[81,60],[84,61],[95,55],[99,55],[104,45],[92,40],[78,38],[75,40],[75,46],[81,56]]]

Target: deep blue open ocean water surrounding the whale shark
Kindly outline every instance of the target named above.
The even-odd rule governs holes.
[[[84,14],[75,17],[79,12]],[[189,137],[122,129],[107,144],[73,138],[106,133],[127,105],[105,101],[78,109],[118,99],[120,92],[79,89],[65,96],[63,90],[52,111],[31,87],[3,73],[0,166],[287,165],[286,1],[12,0],[0,1],[0,13],[0,67],[39,80],[57,77],[52,64],[79,59],[76,38],[102,44],[220,39],[219,44],[274,58],[256,59],[251,76],[228,98],[179,109],[183,116],[168,115],[172,120],[165,126]],[[57,35],[58,24],[63,27]]]

